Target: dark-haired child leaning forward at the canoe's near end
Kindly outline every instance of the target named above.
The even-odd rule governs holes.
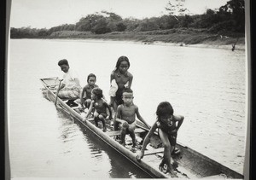
[[[148,145],[149,139],[154,134],[156,128],[158,128],[161,142],[165,148],[164,158],[159,165],[160,171],[163,171],[164,165],[167,165],[167,171],[175,176],[171,164],[171,154],[175,149],[177,131],[183,124],[184,117],[182,115],[174,115],[172,105],[169,102],[160,102],[156,110],[156,115],[157,120],[151,127],[150,131],[148,131],[148,135],[145,137],[143,142],[143,147],[137,155],[137,160],[141,160],[143,158],[144,150]]]

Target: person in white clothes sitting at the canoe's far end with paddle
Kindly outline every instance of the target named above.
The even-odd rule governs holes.
[[[61,67],[61,71],[65,73],[58,96],[61,99],[67,99],[68,106],[77,107],[79,105],[74,100],[79,98],[81,91],[78,75],[70,69],[66,59],[59,61],[58,65]]]

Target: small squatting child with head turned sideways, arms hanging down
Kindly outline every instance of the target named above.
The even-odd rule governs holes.
[[[88,116],[91,113],[92,107],[95,107],[95,112],[94,112],[94,121],[96,127],[98,127],[98,121],[102,121],[103,125],[103,131],[107,131],[106,127],[106,122],[105,119],[107,117],[107,108],[109,111],[109,119],[112,119],[112,112],[111,108],[108,106],[108,103],[102,98],[102,90],[98,87],[94,88],[91,90],[91,102],[90,102],[90,107],[88,110],[88,113],[85,116],[85,119],[88,118]]]

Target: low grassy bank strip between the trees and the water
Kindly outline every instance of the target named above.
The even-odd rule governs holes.
[[[245,38],[242,34],[233,34],[231,32],[226,32],[224,35],[220,33],[212,34],[208,33],[205,29],[172,29],[150,32],[110,32],[106,34],[61,31],[53,32],[50,34],[49,38],[95,38],[109,40],[129,40],[147,44],[154,42],[174,44],[245,44]]]

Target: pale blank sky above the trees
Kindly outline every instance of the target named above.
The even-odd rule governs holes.
[[[167,15],[165,7],[175,0],[12,0],[10,26],[50,28],[74,24],[86,15],[107,10],[123,19],[137,19]],[[192,14],[203,14],[206,9],[218,9],[227,0],[186,0],[185,8]]]

